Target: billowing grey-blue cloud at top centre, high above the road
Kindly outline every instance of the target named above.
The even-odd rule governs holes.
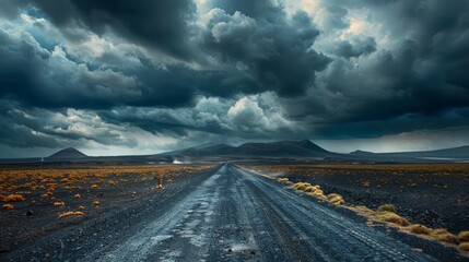
[[[206,48],[222,61],[237,63],[255,80],[256,92],[297,96],[313,84],[329,59],[312,49],[319,32],[304,12],[288,20],[270,1],[219,2],[209,14]],[[216,7],[216,5],[215,5]],[[230,10],[236,10],[230,14]],[[237,10],[241,10],[237,11]],[[250,14],[253,17],[245,15]]]

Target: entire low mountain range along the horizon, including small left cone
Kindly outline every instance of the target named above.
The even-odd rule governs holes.
[[[69,147],[61,150],[49,157],[49,160],[61,159],[106,159],[125,162],[155,162],[173,163],[175,159],[190,162],[195,158],[218,157],[220,159],[249,158],[249,157],[273,157],[273,158],[312,158],[321,160],[340,162],[469,162],[469,146],[445,148],[437,151],[398,152],[398,153],[373,153],[355,151],[350,154],[329,152],[309,140],[279,141],[270,143],[245,143],[239,146],[227,144],[206,143],[190,148],[166,152],[155,155],[130,155],[91,157],[82,152]]]

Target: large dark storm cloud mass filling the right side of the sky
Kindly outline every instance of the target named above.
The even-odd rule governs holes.
[[[318,76],[309,98],[296,104],[289,100],[291,117],[309,123],[327,122],[329,129],[323,133],[345,136],[460,124],[448,117],[441,117],[438,124],[422,119],[469,106],[469,76],[465,73],[469,72],[469,49],[464,48],[469,46],[469,3],[351,1],[341,7],[371,9],[366,19],[385,25],[391,34],[389,41],[395,44],[378,49],[374,38],[365,37],[360,43],[353,38],[356,36],[351,41],[336,43],[327,49],[335,55],[372,55],[330,63]],[[418,124],[403,120],[402,116],[409,114],[415,116],[412,121]],[[366,128],[367,121],[379,123]]]

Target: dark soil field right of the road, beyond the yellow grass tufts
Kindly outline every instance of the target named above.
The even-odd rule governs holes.
[[[469,229],[469,164],[265,165],[249,166],[292,182],[319,184],[351,205],[376,210],[394,204],[412,223]]]

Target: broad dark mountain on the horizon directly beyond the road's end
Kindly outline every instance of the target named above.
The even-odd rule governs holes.
[[[245,143],[239,146],[219,144],[204,148],[189,148],[183,151],[185,156],[273,156],[273,157],[326,157],[330,153],[309,140],[279,141],[271,143]]]

